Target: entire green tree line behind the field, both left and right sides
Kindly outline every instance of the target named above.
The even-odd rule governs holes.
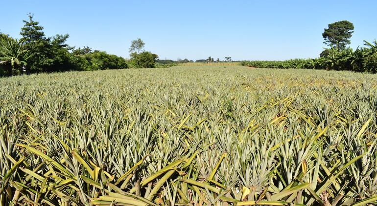
[[[141,39],[131,42],[130,59],[92,50],[90,47],[75,48],[66,43],[69,35],[47,37],[44,27],[28,15],[21,28],[21,39],[0,33],[0,76],[12,76],[40,72],[93,71],[122,68],[169,67],[179,63],[194,62],[187,58],[177,61],[159,60],[159,56],[145,51]],[[363,47],[353,50],[348,45],[353,33],[353,23],[337,21],[324,29],[322,37],[329,46],[319,58],[293,59],[286,61],[243,61],[241,65],[264,68],[308,68],[327,70],[351,70],[357,72],[377,72],[377,41],[364,41]],[[211,56],[195,62],[233,62],[231,57],[214,60]]]

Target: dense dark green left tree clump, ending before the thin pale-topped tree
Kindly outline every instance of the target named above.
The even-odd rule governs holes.
[[[66,43],[69,35],[46,37],[43,26],[39,25],[38,21],[34,21],[32,15],[24,21],[20,34],[22,35],[20,40],[0,34],[0,61],[3,61],[3,65],[0,66],[0,76],[23,72],[127,68],[126,61],[121,57],[106,52],[91,52],[91,49],[87,53],[82,53],[80,48],[74,49]]]

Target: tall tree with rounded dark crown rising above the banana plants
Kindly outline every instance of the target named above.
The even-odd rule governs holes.
[[[325,28],[322,37],[325,39],[325,44],[341,50],[351,43],[352,33],[353,23],[350,21],[337,21],[330,23],[329,27]]]

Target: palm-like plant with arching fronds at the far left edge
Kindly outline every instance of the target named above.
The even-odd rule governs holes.
[[[0,41],[0,61],[3,63],[10,62],[11,67],[8,70],[8,74],[19,74],[22,65],[26,65],[26,61],[29,58],[28,50],[24,47],[24,41],[18,41],[17,39],[6,38],[4,41]]]

